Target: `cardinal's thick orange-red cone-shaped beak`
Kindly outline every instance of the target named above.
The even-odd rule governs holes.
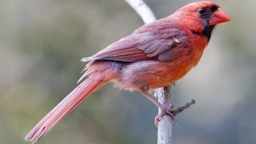
[[[217,25],[222,22],[229,22],[231,19],[227,14],[224,13],[220,8],[214,12],[214,14],[211,15],[209,20],[209,25]]]

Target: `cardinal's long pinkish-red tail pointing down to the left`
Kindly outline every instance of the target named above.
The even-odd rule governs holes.
[[[87,98],[95,90],[98,90],[106,80],[87,78],[77,86],[70,94],[59,102],[32,130],[26,135],[25,140],[37,142],[66,114],[69,114],[82,100]]]

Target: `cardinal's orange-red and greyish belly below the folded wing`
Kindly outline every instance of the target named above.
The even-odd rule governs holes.
[[[197,62],[196,62],[197,63]],[[194,66],[189,60],[174,62],[142,61],[134,62],[121,71],[121,88],[156,89],[169,86],[186,75]]]

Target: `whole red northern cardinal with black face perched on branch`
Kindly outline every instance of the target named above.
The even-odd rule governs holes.
[[[210,41],[214,27],[230,18],[214,2],[194,2],[166,18],[138,28],[134,33],[112,43],[83,62],[90,61],[81,82],[26,135],[37,142],[59,120],[82,100],[106,82],[118,87],[139,90],[162,114],[170,114],[169,106],[159,103],[150,93],[169,86],[198,64]]]

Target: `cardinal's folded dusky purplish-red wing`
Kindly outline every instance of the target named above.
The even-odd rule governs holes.
[[[186,33],[178,28],[142,26],[133,34],[114,42],[97,54],[82,58],[82,61],[137,62],[147,59],[171,61],[186,50],[184,49],[187,47],[186,42]]]

